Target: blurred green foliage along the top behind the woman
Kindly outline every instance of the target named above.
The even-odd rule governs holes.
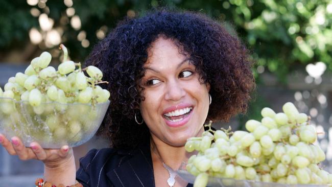
[[[98,29],[107,26],[111,30],[129,10],[140,16],[153,7],[169,6],[205,13],[234,28],[257,62],[253,73],[258,84],[258,66],[275,74],[280,82],[294,69],[304,69],[309,63],[322,61],[327,69],[332,69],[332,0],[74,0],[73,3],[75,15],[82,22],[80,30],[70,26],[69,18],[65,24],[60,21],[66,16],[63,1],[47,1],[46,6],[50,9],[49,17],[55,20],[54,27],[63,28],[63,43],[75,61],[84,61],[98,42]],[[29,30],[39,28],[38,18],[30,13],[33,7],[38,8],[26,1],[0,1],[0,55],[30,42]],[[90,41],[88,48],[83,48],[77,40],[82,30]],[[260,105],[265,103],[260,99],[252,107],[262,108]],[[258,116],[259,110],[250,111],[254,111],[249,114],[253,118]]]

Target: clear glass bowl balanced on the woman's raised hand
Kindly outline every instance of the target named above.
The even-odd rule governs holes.
[[[0,97],[0,133],[18,136],[26,147],[38,142],[42,148],[76,147],[87,142],[100,127],[110,101],[90,104],[41,103]]]

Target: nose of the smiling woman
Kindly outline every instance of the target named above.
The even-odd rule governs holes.
[[[179,101],[185,96],[185,90],[183,89],[182,84],[178,81],[170,81],[165,87],[165,100],[168,101]]]

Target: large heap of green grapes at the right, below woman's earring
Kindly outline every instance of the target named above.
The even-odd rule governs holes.
[[[275,113],[263,108],[263,119],[249,120],[247,131],[209,130],[189,138],[186,169],[197,176],[194,186],[206,186],[208,176],[278,182],[284,184],[332,184],[332,174],[319,167],[325,160],[315,144],[317,133],[310,116],[299,113],[293,103]]]

